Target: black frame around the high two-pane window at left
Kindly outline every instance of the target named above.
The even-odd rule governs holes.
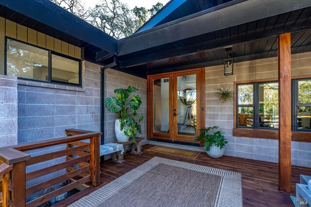
[[[40,46],[36,46],[36,45],[30,44],[30,43],[27,43],[27,42],[23,42],[23,41],[17,40],[17,39],[12,38],[12,37],[5,36],[4,39],[5,39],[4,40],[5,41],[4,42],[4,75],[7,75],[7,41],[9,39],[9,40],[17,41],[19,43],[26,44],[26,45],[29,45],[29,46],[32,46],[32,47],[35,47],[35,48],[44,49],[44,50],[48,51],[48,53],[49,53],[49,55],[48,55],[48,58],[49,58],[49,67],[48,67],[49,80],[31,79],[31,78],[25,78],[25,77],[17,76],[18,79],[34,80],[34,81],[38,81],[38,82],[55,83],[55,84],[62,84],[62,85],[70,85],[70,86],[82,87],[82,60],[81,59],[74,58],[74,57],[71,57],[69,55],[65,55],[65,54],[62,54],[62,53],[59,53],[59,52],[56,52],[56,51],[52,51],[52,50],[47,49],[47,48],[42,48]],[[79,83],[78,84],[77,83],[69,83],[69,82],[62,82],[62,81],[52,80],[52,54],[58,55],[58,56],[61,56],[61,57],[64,57],[64,58],[67,58],[69,60],[77,61],[79,63],[79,71],[78,71]]]

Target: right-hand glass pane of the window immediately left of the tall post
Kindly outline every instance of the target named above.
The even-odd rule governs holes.
[[[259,84],[259,127],[278,128],[278,83]]]

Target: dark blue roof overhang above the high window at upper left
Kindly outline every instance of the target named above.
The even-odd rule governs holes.
[[[0,0],[0,6],[12,11],[10,14],[1,12],[0,16],[24,25],[25,18],[28,18],[29,24],[26,26],[32,29],[40,26],[42,27],[40,32],[49,33],[54,37],[66,34],[68,38],[76,40],[74,45],[80,44],[81,47],[91,45],[96,48],[95,50],[105,50],[117,55],[118,41],[115,38],[50,0]],[[56,31],[52,31],[51,28]]]

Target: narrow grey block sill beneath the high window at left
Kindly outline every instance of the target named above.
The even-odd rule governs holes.
[[[84,92],[85,89],[80,86],[71,86],[71,85],[62,85],[57,83],[50,83],[50,82],[40,82],[34,80],[24,80],[24,79],[17,79],[18,85],[27,85],[27,86],[36,86],[42,88],[55,88],[55,89],[62,89],[68,91],[81,91]]]

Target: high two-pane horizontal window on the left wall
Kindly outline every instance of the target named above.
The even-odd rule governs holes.
[[[80,60],[6,39],[6,75],[80,85]]]

